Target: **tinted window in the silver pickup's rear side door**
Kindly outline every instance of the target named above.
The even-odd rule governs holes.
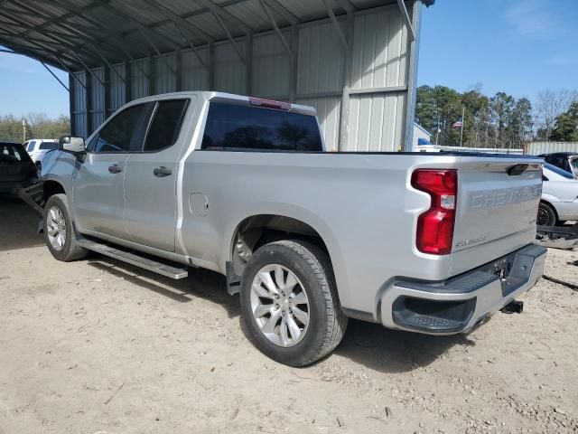
[[[145,152],[159,151],[174,145],[181,132],[187,102],[188,99],[175,99],[158,103],[144,142]]]

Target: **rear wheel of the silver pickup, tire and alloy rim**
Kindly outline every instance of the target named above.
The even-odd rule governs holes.
[[[279,363],[315,362],[340,343],[347,326],[329,259],[307,242],[276,241],[256,250],[240,296],[247,335]]]

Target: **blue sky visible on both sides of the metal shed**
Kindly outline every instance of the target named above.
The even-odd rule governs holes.
[[[531,100],[546,88],[578,90],[578,0],[437,0],[422,18],[418,84],[480,84]],[[14,54],[0,53],[0,101],[0,115],[69,110],[58,81]]]

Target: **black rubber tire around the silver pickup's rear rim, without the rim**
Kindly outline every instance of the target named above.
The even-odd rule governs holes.
[[[309,299],[309,325],[294,346],[274,344],[264,335],[253,316],[251,286],[256,273],[269,264],[290,269],[303,283]],[[321,249],[304,241],[275,241],[256,250],[243,272],[240,290],[241,314],[251,342],[279,363],[304,366],[330,354],[340,344],[348,318],[340,309],[330,261]]]

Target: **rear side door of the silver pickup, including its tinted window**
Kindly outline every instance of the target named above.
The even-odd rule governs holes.
[[[155,103],[143,149],[126,161],[124,220],[131,241],[174,251],[178,162],[188,145],[183,123],[195,105],[196,97]]]

